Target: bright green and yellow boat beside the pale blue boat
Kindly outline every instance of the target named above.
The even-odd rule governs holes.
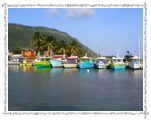
[[[51,63],[50,63],[50,58],[48,57],[43,57],[41,59],[41,61],[37,61],[37,62],[33,62],[33,66],[37,66],[37,67],[51,67]]]

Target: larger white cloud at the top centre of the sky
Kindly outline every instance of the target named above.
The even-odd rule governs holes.
[[[92,8],[64,8],[67,10],[68,18],[89,18],[95,15],[95,11]]]

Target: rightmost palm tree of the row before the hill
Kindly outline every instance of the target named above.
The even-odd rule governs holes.
[[[68,49],[70,51],[70,54],[73,53],[74,55],[77,55],[80,52],[81,46],[78,45],[78,42],[75,40],[69,41]]]

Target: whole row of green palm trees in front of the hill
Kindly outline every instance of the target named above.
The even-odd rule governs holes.
[[[68,56],[72,54],[80,57],[86,54],[86,51],[82,50],[81,45],[75,40],[59,41],[55,37],[46,34],[41,37],[39,32],[34,32],[31,38],[31,46],[34,45],[36,51],[50,51],[52,46],[54,54],[67,54]],[[92,56],[90,53],[87,55]]]

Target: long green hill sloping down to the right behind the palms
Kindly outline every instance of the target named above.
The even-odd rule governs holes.
[[[62,32],[56,29],[51,29],[48,27],[42,26],[25,26],[21,24],[8,23],[8,50],[13,50],[15,47],[22,48],[31,48],[34,49],[34,46],[30,46],[31,35],[38,31],[40,35],[51,35],[54,36],[57,40],[65,40],[69,42],[70,40],[76,40],[81,46],[83,50],[88,51],[88,47],[83,45],[78,39],[71,37],[68,33]],[[89,53],[91,55],[96,56],[97,54],[89,49]]]

